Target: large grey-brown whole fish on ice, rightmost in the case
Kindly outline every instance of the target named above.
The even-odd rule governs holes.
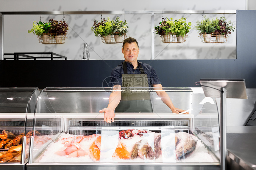
[[[185,159],[196,148],[196,141],[190,136],[184,142],[180,142],[176,148],[176,158]]]

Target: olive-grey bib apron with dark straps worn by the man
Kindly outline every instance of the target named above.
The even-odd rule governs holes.
[[[115,112],[153,112],[148,77],[139,62],[138,66],[141,74],[128,74],[126,62],[123,62],[121,101]]]

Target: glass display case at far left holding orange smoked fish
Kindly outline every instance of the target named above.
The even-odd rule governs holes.
[[[39,94],[38,88],[0,88],[1,169],[25,169],[29,151],[26,138],[33,128]]]

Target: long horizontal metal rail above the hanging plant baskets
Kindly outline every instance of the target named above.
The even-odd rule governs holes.
[[[2,15],[63,15],[63,14],[236,14],[236,10],[183,10],[183,11],[12,11]]]

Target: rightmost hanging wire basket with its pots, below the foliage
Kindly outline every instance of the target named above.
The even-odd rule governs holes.
[[[216,34],[216,32],[203,32],[199,34],[201,42],[224,43],[227,42],[228,35]]]

